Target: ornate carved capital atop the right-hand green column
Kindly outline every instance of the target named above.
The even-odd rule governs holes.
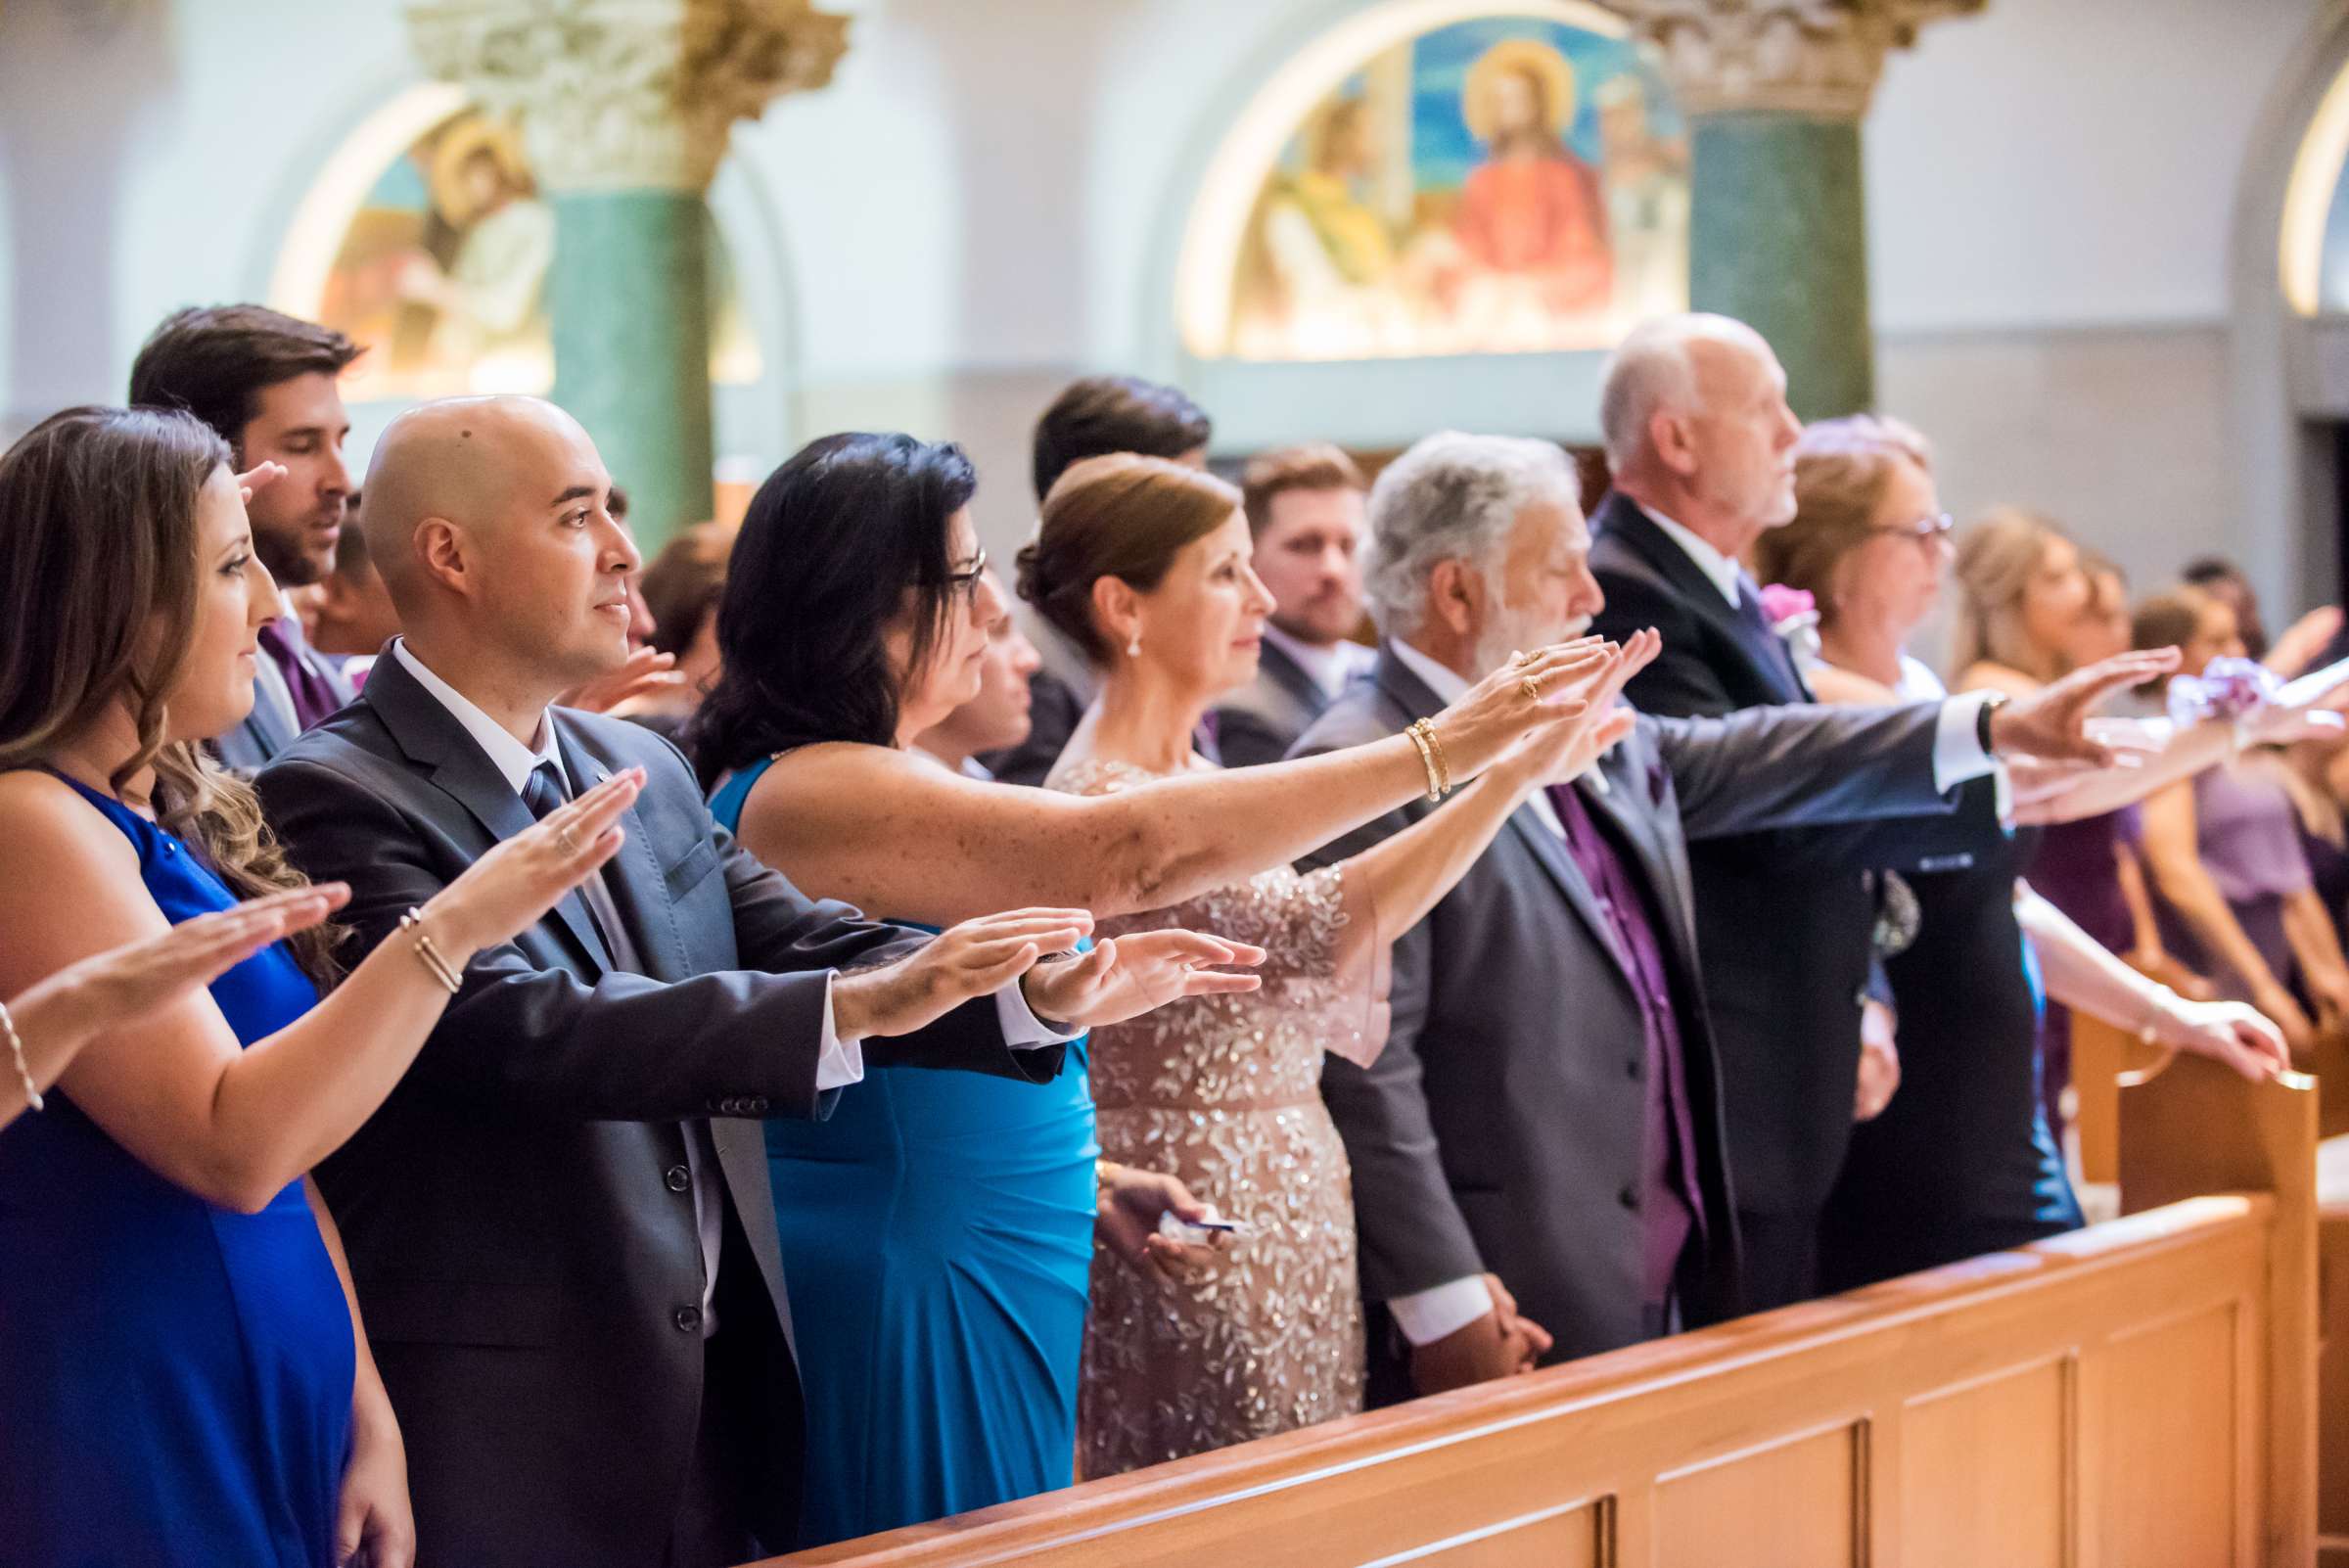
[[[1607,0],[1663,49],[1691,115],[1863,120],[1891,49],[1987,0]]]

